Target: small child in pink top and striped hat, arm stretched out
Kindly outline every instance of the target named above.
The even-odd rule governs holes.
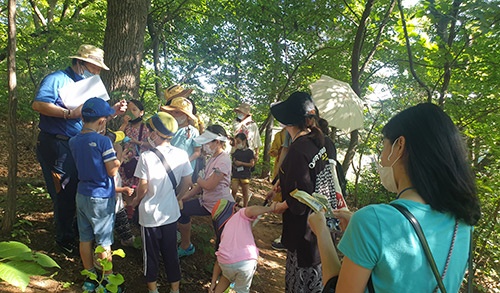
[[[210,292],[222,293],[232,282],[237,293],[250,291],[259,258],[252,223],[257,216],[273,212],[275,207],[276,203],[273,203],[271,206],[249,206],[236,211],[237,205],[226,199],[217,202],[212,210],[212,219],[216,230],[222,230],[222,234],[215,252],[217,260]]]

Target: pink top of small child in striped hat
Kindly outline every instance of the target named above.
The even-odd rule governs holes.
[[[252,221],[245,215],[245,209],[239,210],[227,221],[222,231],[219,250],[215,252],[221,264],[258,259],[259,249],[255,245],[252,234]]]

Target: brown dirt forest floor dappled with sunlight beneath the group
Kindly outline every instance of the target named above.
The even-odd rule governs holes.
[[[82,264],[79,257],[67,257],[60,253],[54,243],[52,202],[44,191],[44,182],[34,152],[34,136],[30,127],[19,128],[18,137],[18,196],[17,224],[11,235],[1,235],[0,241],[20,241],[31,249],[52,257],[60,266],[52,270],[51,276],[33,277],[25,292],[82,292],[84,277],[80,274]],[[6,129],[0,129],[0,138],[6,138]],[[0,215],[4,215],[7,195],[7,145],[0,139]],[[269,190],[267,180],[254,179],[251,184],[251,205],[262,205]],[[134,228],[139,235],[139,228]],[[271,248],[272,241],[281,233],[281,216],[264,215],[253,228],[255,242],[260,250],[259,264],[253,278],[251,292],[284,292],[286,252]],[[115,237],[116,239],[116,237]],[[193,218],[192,242],[196,252],[181,258],[181,292],[207,292],[210,286],[214,256],[214,232],[209,217]],[[122,247],[115,241],[112,249],[123,248],[125,258],[114,257],[116,272],[125,278],[127,292],[146,292],[143,278],[141,250]],[[164,270],[159,278],[160,292],[169,292]],[[0,292],[20,292],[19,289],[0,282]]]

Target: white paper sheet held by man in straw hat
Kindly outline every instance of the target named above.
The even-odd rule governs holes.
[[[77,108],[90,98],[97,97],[105,101],[109,100],[108,92],[99,75],[94,75],[60,88],[59,96],[64,105],[70,110]]]

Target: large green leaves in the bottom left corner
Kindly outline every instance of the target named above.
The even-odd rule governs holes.
[[[0,279],[24,292],[31,276],[48,273],[44,268],[60,267],[49,256],[34,252],[21,242],[0,242]]]

